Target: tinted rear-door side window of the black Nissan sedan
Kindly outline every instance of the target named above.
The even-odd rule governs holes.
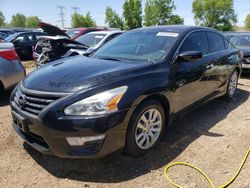
[[[207,38],[210,53],[219,52],[226,49],[224,40],[220,35],[213,32],[207,32]]]

